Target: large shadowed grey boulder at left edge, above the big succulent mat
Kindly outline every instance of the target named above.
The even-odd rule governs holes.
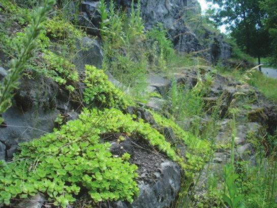
[[[12,158],[18,143],[52,132],[58,113],[77,108],[76,103],[71,102],[69,92],[50,78],[41,75],[35,79],[23,77],[20,83],[12,107],[2,115],[5,123],[0,126],[0,158],[4,159]]]

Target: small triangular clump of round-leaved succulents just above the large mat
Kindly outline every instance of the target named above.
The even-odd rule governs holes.
[[[108,81],[108,76],[103,70],[94,66],[85,66],[84,102],[86,104],[98,103],[102,107],[126,108],[132,102],[126,99],[126,95]]]

